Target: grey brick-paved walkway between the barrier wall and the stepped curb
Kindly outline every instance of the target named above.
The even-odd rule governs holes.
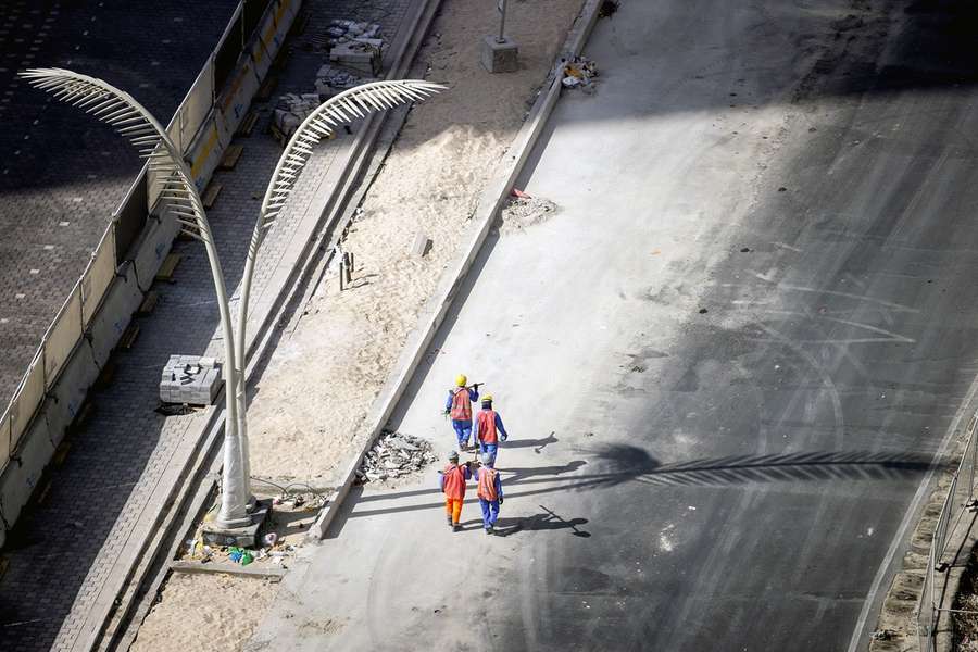
[[[306,1],[313,17],[305,35],[322,29],[334,17],[350,17],[380,23],[385,36],[392,39],[403,27],[410,3]],[[296,45],[305,42],[300,36]],[[297,47],[275,95],[311,92],[323,58],[315,48]],[[46,115],[52,111],[53,106]],[[209,217],[229,287],[240,279],[261,197],[281,152],[265,134],[269,118],[271,103],[264,105],[252,136],[238,140],[244,151],[236,168],[215,177],[224,188]],[[317,192],[325,191],[322,181],[337,151],[350,141],[350,136],[329,141],[310,161],[263,246],[255,294],[262,292],[289,248],[301,243],[293,242],[296,226]],[[97,173],[103,174],[101,165]],[[164,417],[153,412],[159,402],[160,371],[171,354],[223,359],[204,251],[197,242],[184,241],[178,241],[174,251],[183,255],[176,283],[156,284],[160,301],[152,315],[139,318],[136,346],[114,356],[115,378],[93,394],[92,418],[72,436],[70,453],[53,469],[45,500],[22,518],[11,537],[10,567],[0,580],[0,650],[70,648],[106,578],[118,573],[115,563],[127,554],[134,526],[161,507],[153,502],[159,500],[153,492],[167,466],[183,462],[176,459],[179,444],[185,438],[202,435],[203,413]]]

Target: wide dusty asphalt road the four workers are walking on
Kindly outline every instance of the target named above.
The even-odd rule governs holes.
[[[252,648],[865,647],[978,372],[968,4],[602,21],[521,183],[561,211],[492,239],[394,419],[447,451],[486,383],[504,536],[434,473],[367,491]]]

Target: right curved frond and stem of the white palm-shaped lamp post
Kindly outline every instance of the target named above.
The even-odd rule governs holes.
[[[238,384],[238,436],[241,448],[248,451],[248,403],[243,383],[243,369],[248,367],[246,353],[246,330],[248,328],[248,303],[251,298],[251,280],[259,249],[265,233],[275,224],[281,214],[289,193],[305,168],[313,147],[323,138],[329,138],[334,127],[364,117],[374,111],[386,111],[400,104],[427,99],[446,87],[439,84],[404,79],[397,82],[373,82],[344,90],[319,104],[309,117],[296,129],[278,159],[272,180],[265,190],[261,212],[248,244],[248,258],[244,261],[244,274],[241,280],[241,300],[238,303],[238,328],[235,333],[237,342],[237,360],[241,365],[242,381]],[[251,464],[244,457],[246,476],[251,477]]]

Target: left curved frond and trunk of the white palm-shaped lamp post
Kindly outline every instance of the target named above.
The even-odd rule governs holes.
[[[176,216],[180,230],[203,242],[217,293],[217,309],[221,312],[226,376],[224,478],[216,523],[223,528],[249,525],[251,518],[246,505],[250,493],[248,476],[243,473],[247,454],[237,434],[238,402],[235,400],[235,390],[239,385],[239,378],[238,366],[235,364],[235,340],[231,334],[227,289],[211,226],[200,195],[193,185],[193,176],[163,125],[127,92],[102,79],[62,68],[32,68],[21,73],[20,76],[27,79],[32,86],[53,93],[55,99],[84,109],[86,113],[111,125],[121,136],[128,138],[139,151],[139,155],[149,161],[149,171],[163,176],[161,198]]]

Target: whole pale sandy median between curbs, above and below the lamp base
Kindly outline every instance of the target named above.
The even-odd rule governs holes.
[[[290,335],[252,390],[253,475],[319,487],[337,481],[580,7],[581,0],[511,2],[507,34],[519,46],[521,68],[490,75],[478,50],[494,29],[491,3],[443,0],[417,61],[428,63],[428,79],[449,90],[411,112],[343,242],[356,259],[353,289],[339,292],[335,274],[327,278],[297,311],[298,322],[285,329]],[[418,233],[431,239],[423,259],[411,255]],[[175,575],[131,649],[239,650],[276,587],[251,578]]]

